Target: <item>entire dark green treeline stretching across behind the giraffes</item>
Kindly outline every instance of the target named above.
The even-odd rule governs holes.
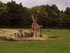
[[[65,11],[60,11],[55,4],[27,8],[15,1],[0,1],[0,28],[31,28],[31,15],[36,15],[36,10],[40,10],[38,23],[43,28],[70,29],[69,7]]]

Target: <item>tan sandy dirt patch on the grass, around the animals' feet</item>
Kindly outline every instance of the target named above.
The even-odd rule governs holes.
[[[41,41],[41,40],[55,40],[62,39],[59,35],[43,35],[42,37],[15,37],[13,34],[17,34],[17,30],[0,30],[0,41]],[[12,36],[11,36],[12,34]],[[30,34],[28,32],[28,34]],[[29,35],[28,35],[29,36]]]

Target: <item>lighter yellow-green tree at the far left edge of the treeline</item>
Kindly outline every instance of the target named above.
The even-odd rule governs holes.
[[[7,13],[7,6],[0,1],[0,25],[1,26],[4,26],[4,24],[6,24],[7,21],[5,17],[6,13]]]

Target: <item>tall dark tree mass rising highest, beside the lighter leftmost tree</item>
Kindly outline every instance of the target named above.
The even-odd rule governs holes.
[[[10,17],[10,25],[12,27],[22,27],[27,24],[27,8],[22,6],[22,3],[16,4],[15,1],[7,3],[8,16]]]

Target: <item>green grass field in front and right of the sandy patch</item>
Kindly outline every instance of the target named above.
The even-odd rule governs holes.
[[[0,42],[0,53],[70,53],[70,30],[50,29],[50,32],[47,32],[47,29],[43,29],[43,33],[60,35],[64,38],[30,42]]]

